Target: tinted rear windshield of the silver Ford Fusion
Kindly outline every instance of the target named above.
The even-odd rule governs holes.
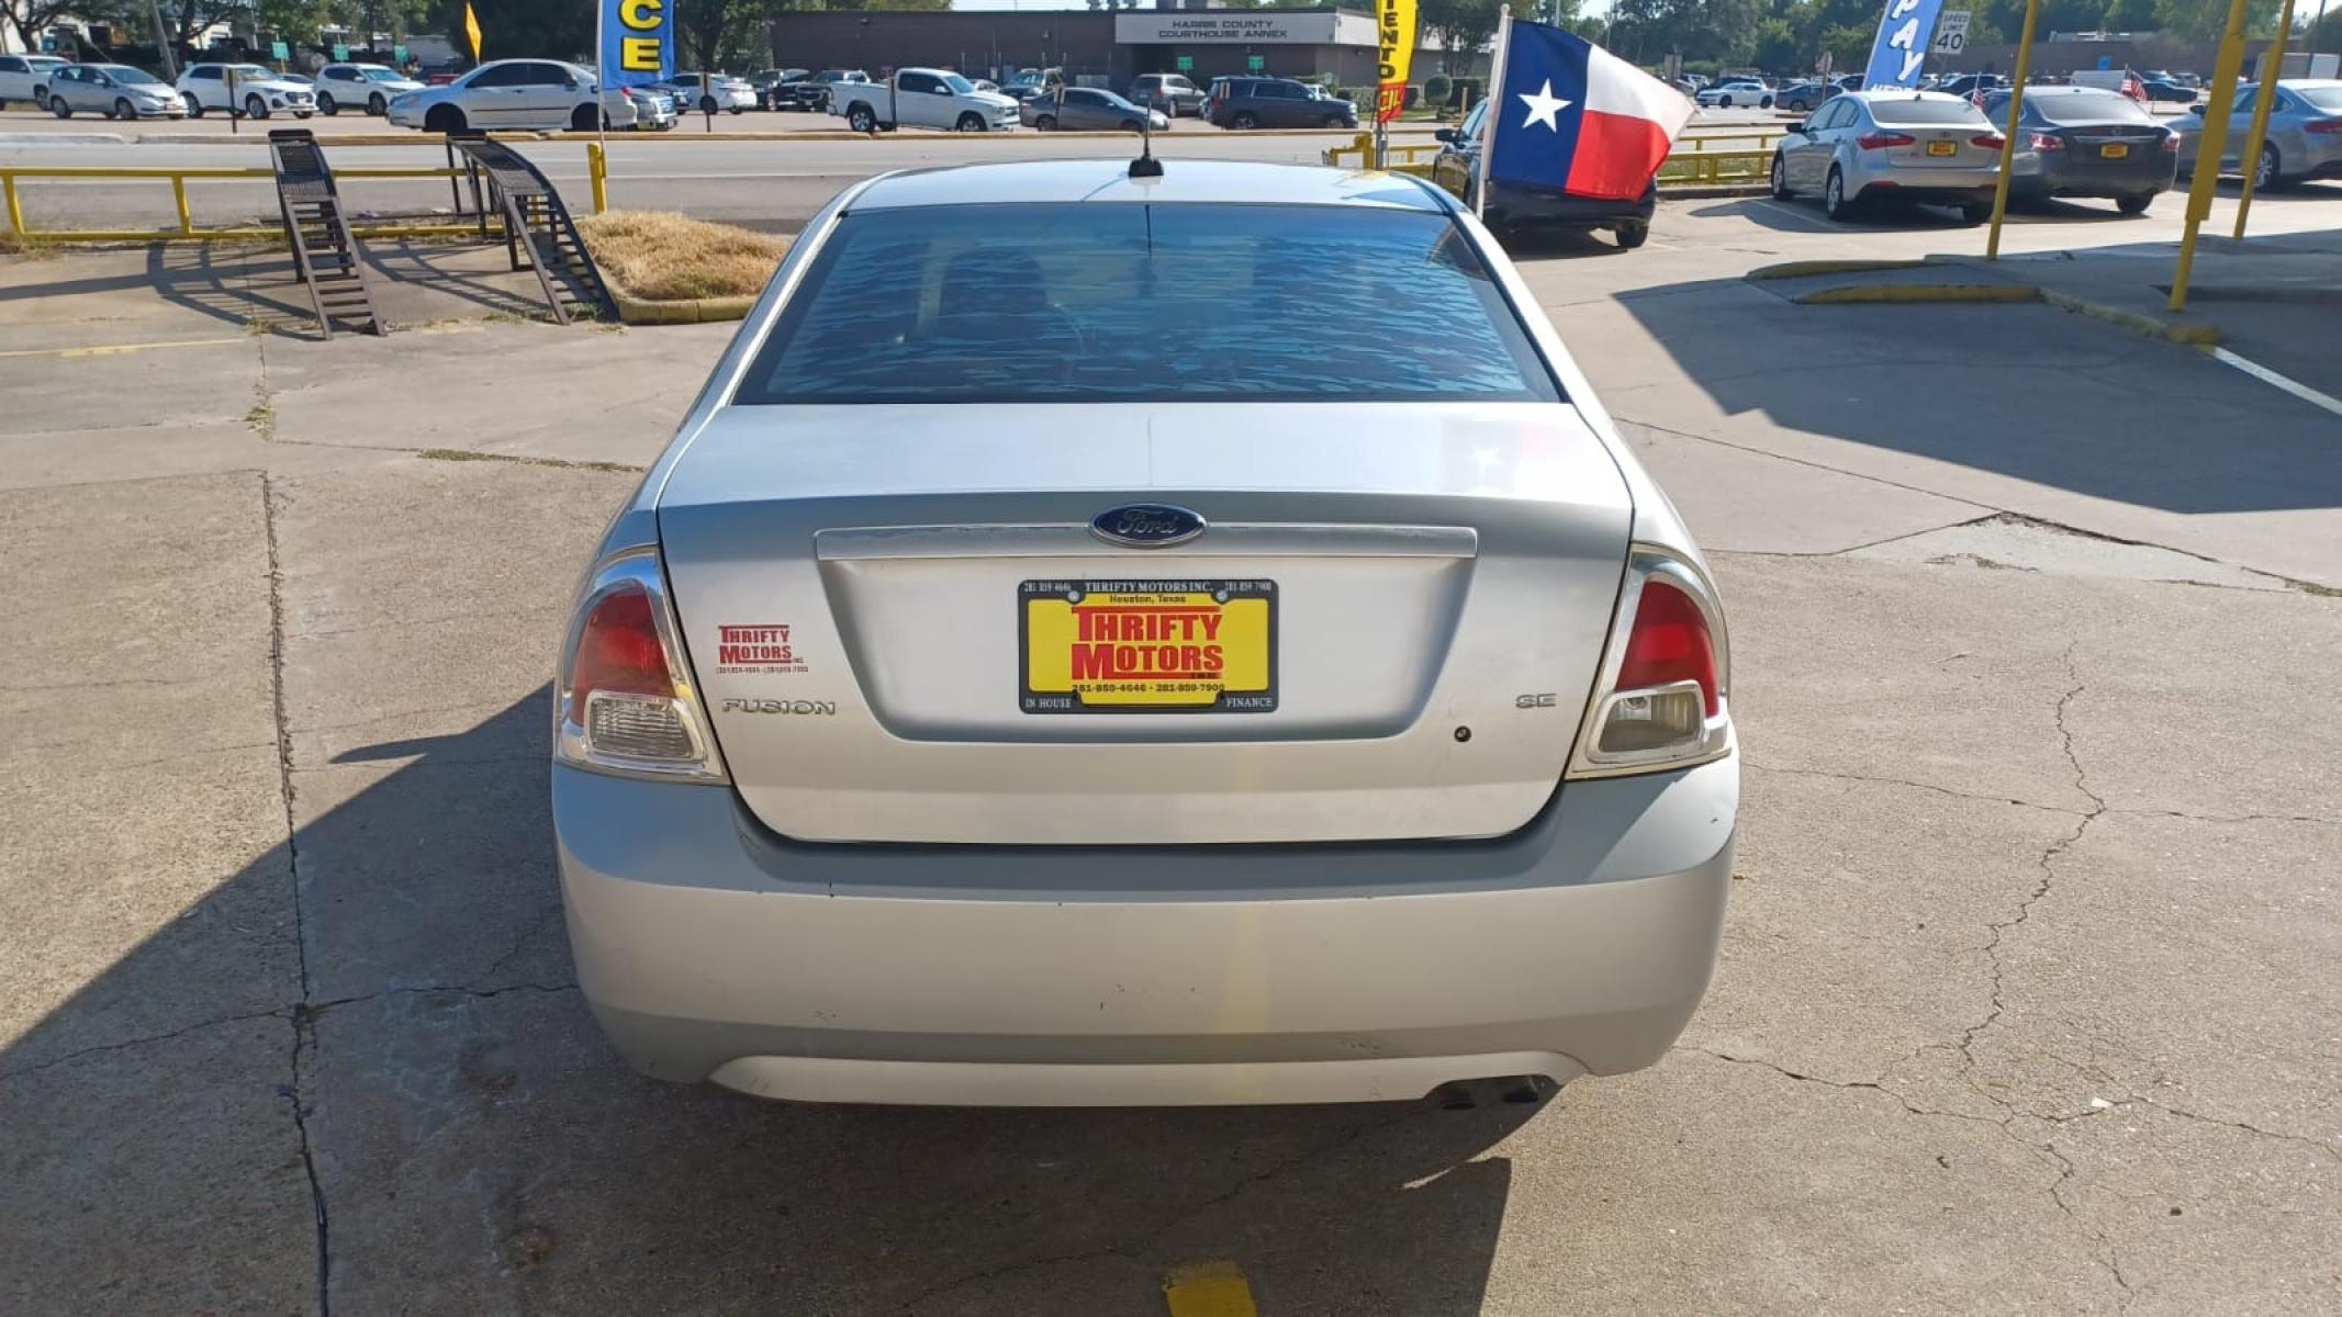
[[[838,220],[733,400],[1557,398],[1447,215],[1009,204]]]

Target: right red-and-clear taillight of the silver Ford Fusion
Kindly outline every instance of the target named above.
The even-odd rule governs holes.
[[[1569,777],[1677,770],[1731,753],[1731,657],[1714,587],[1635,545]]]

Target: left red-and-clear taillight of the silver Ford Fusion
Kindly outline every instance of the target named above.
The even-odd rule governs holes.
[[[630,777],[726,781],[651,550],[602,561],[578,594],[553,681],[553,758]]]

